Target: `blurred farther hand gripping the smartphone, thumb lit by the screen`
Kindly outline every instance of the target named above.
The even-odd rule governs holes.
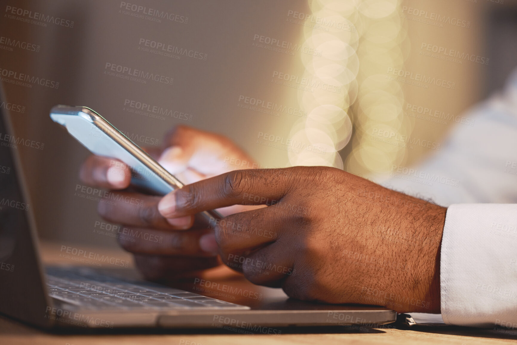
[[[234,143],[217,134],[177,126],[165,138],[164,150],[147,150],[151,156],[182,182],[192,183],[232,169],[256,163]],[[232,165],[238,162],[239,165]],[[245,163],[243,163],[245,162]],[[214,231],[194,222],[194,217],[165,219],[158,212],[161,197],[130,190],[131,172],[115,159],[90,156],[81,167],[83,182],[112,189],[116,200],[125,197],[136,202],[100,202],[99,214],[107,221],[123,224],[120,245],[134,253],[136,265],[149,279],[175,277],[220,264]],[[242,206],[240,206],[242,207]],[[220,210],[229,215],[241,208]],[[189,229],[189,230],[187,230]]]

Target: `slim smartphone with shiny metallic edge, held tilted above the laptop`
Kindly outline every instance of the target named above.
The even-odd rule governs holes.
[[[50,118],[66,128],[91,153],[126,163],[131,169],[131,185],[155,195],[165,195],[184,186],[153,157],[92,109],[58,105],[50,110]],[[214,224],[216,219],[222,219],[221,214],[215,210],[204,211],[200,215],[208,225]]]

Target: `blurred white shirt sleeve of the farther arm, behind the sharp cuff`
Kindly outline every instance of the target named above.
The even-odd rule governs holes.
[[[416,167],[393,166],[387,181],[376,181],[442,206],[517,203],[517,70],[504,92],[456,119],[439,151]]]

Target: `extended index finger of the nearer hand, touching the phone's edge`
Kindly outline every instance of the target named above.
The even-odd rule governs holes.
[[[274,205],[291,188],[286,169],[235,170],[184,186],[160,200],[165,218],[187,216],[232,205]]]

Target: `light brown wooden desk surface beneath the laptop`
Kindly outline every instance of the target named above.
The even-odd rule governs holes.
[[[98,249],[97,249],[98,250]],[[42,257],[48,263],[69,262],[59,257],[59,246],[45,244],[42,246]],[[125,253],[117,252],[124,256]],[[128,256],[129,258],[129,256]],[[212,275],[220,275],[214,272]],[[385,325],[385,328],[365,327],[325,327],[307,329],[282,328],[279,336],[242,335],[231,331],[181,331],[161,330],[159,334],[133,332],[132,334],[51,334],[31,326],[0,316],[0,343],[2,344],[184,344],[184,345],[217,345],[217,344],[496,344],[517,343],[517,330],[476,329],[466,327],[417,327],[403,328]],[[224,332],[224,333],[223,333]]]

